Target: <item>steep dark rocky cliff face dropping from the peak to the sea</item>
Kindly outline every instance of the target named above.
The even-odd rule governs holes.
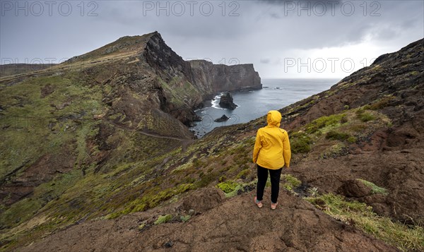
[[[160,78],[165,111],[186,125],[196,120],[193,109],[201,107],[216,92],[262,88],[253,64],[226,66],[204,60],[184,61],[158,32],[149,37],[143,56]]]

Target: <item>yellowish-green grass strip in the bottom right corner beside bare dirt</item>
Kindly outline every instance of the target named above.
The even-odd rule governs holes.
[[[372,212],[372,207],[365,203],[346,201],[342,196],[331,193],[305,200],[336,220],[358,227],[401,251],[424,250],[424,228],[419,225],[408,226],[392,222],[388,217],[381,217]]]

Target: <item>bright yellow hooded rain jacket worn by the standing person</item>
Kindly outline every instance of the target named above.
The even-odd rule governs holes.
[[[271,110],[266,116],[268,126],[259,128],[253,149],[253,162],[268,169],[290,167],[290,141],[280,128],[281,113]]]

